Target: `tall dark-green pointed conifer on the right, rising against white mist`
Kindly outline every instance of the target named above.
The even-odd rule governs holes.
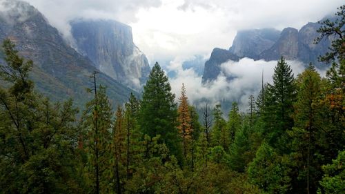
[[[268,84],[264,101],[264,134],[268,143],[286,151],[286,130],[293,127],[293,102],[296,99],[295,79],[282,57],[275,67],[273,85]]]

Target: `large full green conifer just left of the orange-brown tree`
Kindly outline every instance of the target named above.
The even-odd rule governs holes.
[[[139,126],[151,138],[160,135],[159,142],[168,146],[172,155],[181,162],[181,144],[177,130],[177,104],[170,92],[168,77],[158,63],[152,68],[139,110]]]

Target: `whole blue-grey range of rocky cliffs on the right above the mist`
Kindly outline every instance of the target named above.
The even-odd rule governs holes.
[[[319,27],[319,23],[309,22],[300,30],[285,28],[281,33],[272,29],[239,31],[229,50],[213,50],[210,59],[205,63],[202,83],[217,79],[222,63],[228,60],[237,61],[243,57],[272,61],[283,56],[287,60],[302,61],[306,65],[311,62],[317,68],[327,68],[328,66],[317,58],[328,51],[331,37],[314,44],[314,40],[319,37]]]

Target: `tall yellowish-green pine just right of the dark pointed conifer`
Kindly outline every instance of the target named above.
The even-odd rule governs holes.
[[[319,155],[315,147],[319,144],[317,139],[319,139],[320,134],[319,124],[317,124],[320,110],[315,105],[321,96],[321,78],[314,66],[310,64],[299,75],[297,82],[299,90],[297,101],[294,104],[295,126],[293,130],[289,131],[289,134],[293,137],[293,155],[298,157],[295,159],[297,168],[299,168],[297,179],[302,180],[302,183],[299,183],[299,188],[304,184],[307,193],[316,193],[317,182],[321,178],[321,169],[317,168],[320,167],[321,161],[313,157]]]

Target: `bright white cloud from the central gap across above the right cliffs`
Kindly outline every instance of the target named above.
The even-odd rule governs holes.
[[[344,2],[268,0],[164,0],[159,8],[139,10],[130,23],[135,43],[149,61],[164,66],[176,56],[207,55],[230,48],[237,30],[301,28],[333,14]]]

